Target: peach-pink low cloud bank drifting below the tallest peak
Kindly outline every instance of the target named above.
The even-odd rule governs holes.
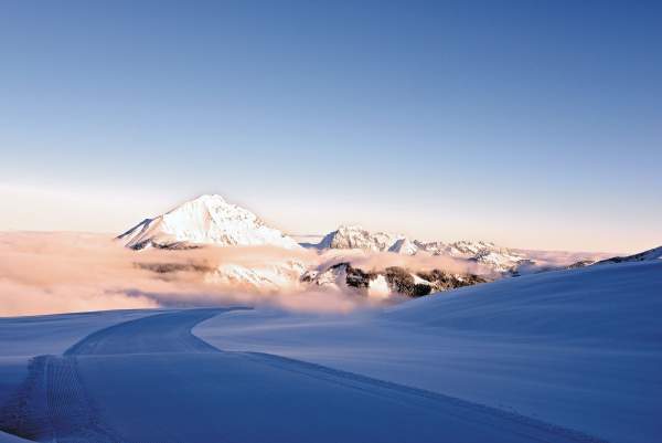
[[[319,256],[261,246],[137,252],[99,234],[0,233],[0,316],[228,304],[348,312],[363,303],[296,281],[278,289],[257,288],[201,272],[218,265],[269,268],[291,261],[309,265]]]

